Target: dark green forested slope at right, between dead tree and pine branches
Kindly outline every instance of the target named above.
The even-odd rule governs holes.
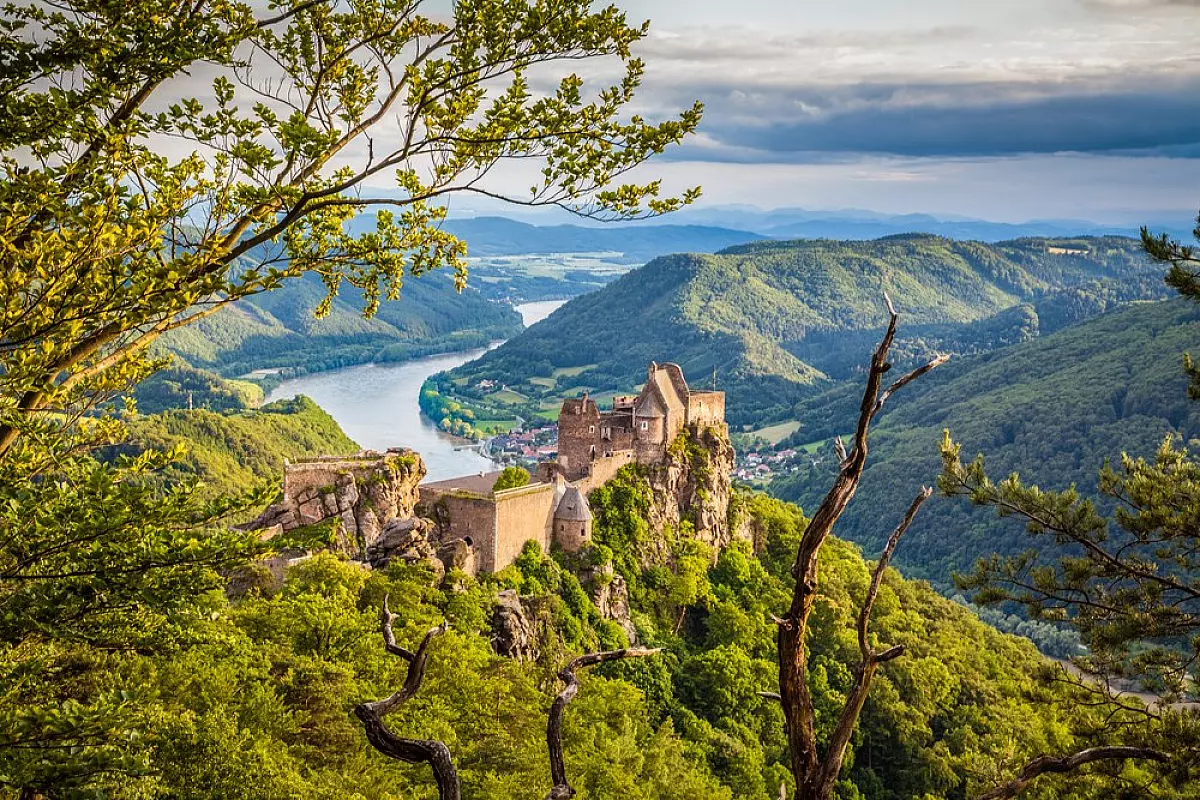
[[[952,361],[898,395],[872,434],[871,457],[838,533],[877,552],[882,521],[901,513],[920,483],[940,471],[938,443],[949,429],[964,458],[983,452],[989,474],[1018,471],[1045,489],[1094,494],[1105,459],[1150,456],[1163,438],[1200,437],[1200,408],[1188,401],[1181,354],[1200,342],[1200,309],[1186,301],[1135,303],[1037,342]],[[794,444],[846,433],[858,387],[847,383],[798,409]],[[911,392],[911,393],[910,393]],[[804,507],[830,483],[836,458],[817,450],[808,474],[780,480],[772,493]],[[946,584],[994,552],[1028,547],[1020,522],[941,498],[926,504],[896,552],[907,575]]]

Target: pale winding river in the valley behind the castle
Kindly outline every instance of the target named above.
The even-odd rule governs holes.
[[[521,303],[516,309],[526,326],[534,325],[565,300]],[[499,343],[492,347],[498,347]],[[462,439],[439,431],[416,399],[430,375],[473,361],[490,348],[448,353],[402,363],[364,363],[358,367],[318,372],[280,384],[268,401],[307,395],[362,447],[386,450],[412,447],[421,453],[431,480],[494,469],[494,464]]]

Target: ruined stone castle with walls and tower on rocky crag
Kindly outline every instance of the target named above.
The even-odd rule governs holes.
[[[407,450],[310,459],[284,465],[283,500],[250,527],[277,535],[337,517],[338,549],[372,565],[437,558],[472,575],[496,572],[530,541],[546,552],[552,545],[568,552],[586,546],[588,494],[636,463],[661,468],[659,485],[673,497],[660,522],[678,523],[691,510],[697,534],[715,542],[728,536],[728,470],[712,470],[706,480],[716,483],[698,486],[686,459],[672,459],[685,431],[732,467],[725,392],[692,391],[678,365],[652,362],[641,392],[614,398],[610,410],[587,395],[564,401],[558,459],[539,464],[527,486],[496,492],[500,473],[421,483],[425,465]],[[722,494],[716,505],[695,503]]]

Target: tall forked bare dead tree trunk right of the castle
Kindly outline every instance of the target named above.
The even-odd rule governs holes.
[[[812,706],[812,694],[808,685],[808,652],[804,648],[808,633],[809,615],[817,599],[817,555],[821,546],[829,537],[834,524],[841,517],[846,506],[854,497],[858,483],[866,467],[868,434],[871,422],[883,410],[883,404],[895,392],[912,381],[941,366],[949,356],[938,356],[917,369],[905,374],[895,383],[883,389],[883,375],[890,371],[888,351],[895,339],[899,314],[892,300],[884,295],[888,306],[888,327],[883,339],[871,356],[871,368],[866,378],[866,389],[858,416],[858,425],[851,449],[839,438],[835,441],[838,456],[841,459],[838,477],[829,493],[826,494],[816,513],[809,522],[800,539],[792,565],[796,587],[792,593],[792,604],[782,619],[776,619],[779,626],[779,698],[784,709],[787,727],[787,742],[791,750],[792,775],[796,778],[796,800],[828,800],[833,796],[834,784],[841,772],[841,765],[850,745],[854,726],[862,714],[863,704],[870,692],[871,680],[880,664],[904,655],[904,646],[876,650],[870,644],[868,628],[871,609],[878,594],[883,573],[887,571],[896,545],[912,524],[922,504],[929,499],[931,491],[922,488],[912,501],[904,519],[888,539],[871,576],[871,587],[858,614],[858,644],[860,661],[854,668],[854,684],[850,690],[846,704],[838,718],[829,746],[822,754],[817,751],[816,715]]]

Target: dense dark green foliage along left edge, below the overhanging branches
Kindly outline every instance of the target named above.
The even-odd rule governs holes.
[[[110,654],[204,640],[221,572],[262,551],[224,517],[265,497],[162,489],[170,453],[55,456],[0,458],[0,784],[88,796],[146,768],[142,709],[107,684]]]

